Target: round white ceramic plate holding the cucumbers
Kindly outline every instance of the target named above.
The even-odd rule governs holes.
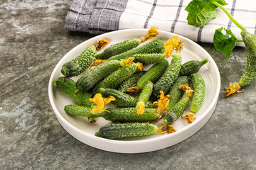
[[[109,121],[105,120],[104,118],[97,118],[96,123],[89,123],[87,118],[73,117],[65,113],[65,111],[63,110],[64,106],[75,103],[71,98],[65,96],[64,94],[61,94],[60,91],[55,89],[55,86],[52,82],[53,79],[57,79],[58,77],[63,76],[60,73],[60,69],[65,62],[68,62],[80,55],[80,53],[85,49],[85,47],[87,47],[87,45],[91,45],[92,42],[96,42],[97,40],[101,40],[103,38],[109,40],[110,44],[107,45],[108,47],[111,44],[129,38],[140,38],[146,35],[146,31],[146,29],[117,30],[110,33],[98,35],[95,38],[86,40],[80,45],[74,47],[55,66],[55,69],[50,76],[48,86],[50,104],[53,107],[53,111],[58,118],[60,125],[62,125],[63,128],[70,133],[70,135],[73,135],[73,137],[87,145],[110,152],[151,152],[158,149],[170,147],[177,144],[178,142],[186,140],[188,137],[196,133],[203,127],[203,125],[207,123],[210,116],[213,114],[213,111],[215,110],[215,106],[218,101],[218,94],[220,92],[220,74],[218,71],[218,67],[216,66],[213,58],[210,57],[208,52],[206,52],[203,47],[196,44],[196,42],[189,40],[188,38],[184,38],[181,35],[178,35],[178,37],[182,38],[185,43],[185,46],[183,46],[183,50],[181,51],[183,63],[188,62],[189,60],[207,59],[209,61],[207,64],[203,65],[203,67],[201,67],[200,71],[198,72],[198,74],[201,74],[203,79],[206,81],[206,98],[203,102],[203,106],[196,113],[196,120],[190,125],[186,123],[186,120],[181,120],[181,118],[179,118],[178,120],[176,120],[175,123],[172,124],[177,132],[171,134],[162,135],[161,133],[156,132],[154,135],[148,135],[145,137],[131,137],[122,140],[107,140],[101,137],[95,137],[95,132],[97,132],[100,127],[102,127],[102,125],[107,125],[108,123],[110,123]],[[157,38],[166,41],[169,38],[171,39],[174,35],[175,34],[173,33],[159,30],[159,35],[157,36]],[[144,45],[144,43],[142,43],[142,45]],[[106,47],[104,47],[104,49],[105,48]],[[102,50],[100,50],[99,52],[102,52]],[[169,57],[168,60],[169,62],[171,62],[171,57]],[[74,80],[76,81],[78,78],[79,77],[75,77]],[[105,108],[110,106],[111,104],[108,104],[108,106],[106,106]],[[189,108],[187,109],[187,111],[188,110]],[[163,120],[159,120],[157,122],[154,122],[154,124],[159,125],[159,123],[161,123],[162,121]]]

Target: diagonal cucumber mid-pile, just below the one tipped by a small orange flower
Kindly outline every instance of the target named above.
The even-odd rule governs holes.
[[[95,95],[98,93],[99,89],[102,88],[112,88],[115,89],[119,84],[122,84],[123,81],[132,77],[137,70],[138,64],[132,63],[127,67],[121,67],[116,71],[112,72],[109,76],[103,79],[100,84],[98,84],[93,90],[92,94]]]

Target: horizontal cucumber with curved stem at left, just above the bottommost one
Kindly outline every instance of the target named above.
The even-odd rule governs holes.
[[[105,120],[110,120],[112,122],[120,123],[131,123],[131,122],[150,122],[159,118],[159,113],[156,113],[154,108],[146,108],[142,115],[138,115],[135,108],[107,108],[106,111],[102,113],[97,113],[91,115],[89,121],[95,118],[105,118]]]

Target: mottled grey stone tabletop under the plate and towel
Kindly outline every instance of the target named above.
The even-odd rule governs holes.
[[[245,70],[245,49],[229,60],[201,44],[218,64],[221,91],[208,123],[178,145],[144,154],[89,147],[60,126],[48,80],[66,52],[94,35],[68,33],[71,0],[0,1],[0,169],[256,169],[256,82],[225,98]]]

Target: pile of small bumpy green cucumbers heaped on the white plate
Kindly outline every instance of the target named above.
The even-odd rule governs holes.
[[[141,43],[139,38],[132,38],[111,45],[100,53],[90,45],[78,57],[63,64],[63,77],[53,81],[58,91],[77,103],[65,106],[65,113],[87,117],[90,123],[99,117],[111,121],[95,136],[119,139],[151,135],[161,131],[152,123],[154,120],[163,117],[164,124],[171,125],[189,105],[191,113],[196,113],[203,104],[205,81],[197,72],[207,60],[181,64],[181,53],[176,52],[169,63],[164,57],[162,40],[144,42],[138,47]],[[88,69],[97,59],[107,62]],[[147,64],[151,67],[142,71]],[[78,75],[80,78],[74,81],[72,77]],[[186,84],[192,84],[191,102],[180,88]],[[157,109],[160,91],[169,97],[164,111]],[[103,98],[114,97],[111,103],[115,107],[94,113],[92,98],[96,94]]]

